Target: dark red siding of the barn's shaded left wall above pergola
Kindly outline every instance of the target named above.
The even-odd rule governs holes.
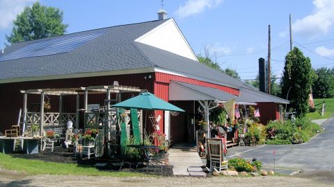
[[[144,79],[144,76],[152,75],[152,79]],[[148,89],[154,91],[154,73],[138,73],[130,75],[110,75],[91,78],[69,78],[60,80],[41,80],[31,82],[14,82],[0,84],[0,132],[10,129],[11,125],[17,123],[19,108],[23,107],[23,94],[20,90],[27,89],[45,89],[45,88],[73,88],[73,87],[89,87],[100,85],[112,85],[117,80],[120,85],[139,87],[140,89]],[[129,98],[132,94],[122,96],[122,100]],[[114,96],[111,95],[111,98]],[[75,96],[64,96],[64,112],[76,111]],[[104,105],[104,94],[95,94],[88,97],[88,103],[100,103]],[[50,97],[51,111],[58,112],[58,98]],[[27,107],[31,110],[31,103],[40,103],[40,96],[29,94]],[[80,96],[80,108],[84,105],[84,96]]]

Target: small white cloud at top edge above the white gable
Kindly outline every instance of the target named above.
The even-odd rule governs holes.
[[[221,2],[222,0],[188,0],[175,13],[178,17],[197,15],[207,8],[215,8]]]

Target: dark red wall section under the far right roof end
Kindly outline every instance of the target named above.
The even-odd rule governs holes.
[[[279,120],[280,111],[277,103],[257,103],[255,108],[260,111],[260,122],[267,124],[270,120]]]

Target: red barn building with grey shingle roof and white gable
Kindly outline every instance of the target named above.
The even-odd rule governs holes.
[[[17,123],[23,105],[21,90],[112,85],[114,81],[147,89],[186,110],[178,116],[161,111],[155,114],[161,116],[160,129],[173,143],[193,140],[197,100],[237,96],[240,103],[257,103],[263,123],[279,119],[279,105],[287,103],[200,64],[174,19],[160,19],[5,48],[0,54],[0,132]],[[38,103],[40,98],[28,99]],[[88,103],[99,100],[103,97],[93,96]],[[52,102],[51,98],[53,109],[58,109],[58,101]],[[64,103],[64,112],[76,109],[75,98],[69,96]]]

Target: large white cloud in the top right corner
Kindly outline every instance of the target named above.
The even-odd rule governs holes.
[[[334,1],[333,0],[314,0],[315,10],[312,14],[297,19],[292,24],[294,33],[300,33],[306,37],[314,37],[320,33],[329,33],[334,22]]]

